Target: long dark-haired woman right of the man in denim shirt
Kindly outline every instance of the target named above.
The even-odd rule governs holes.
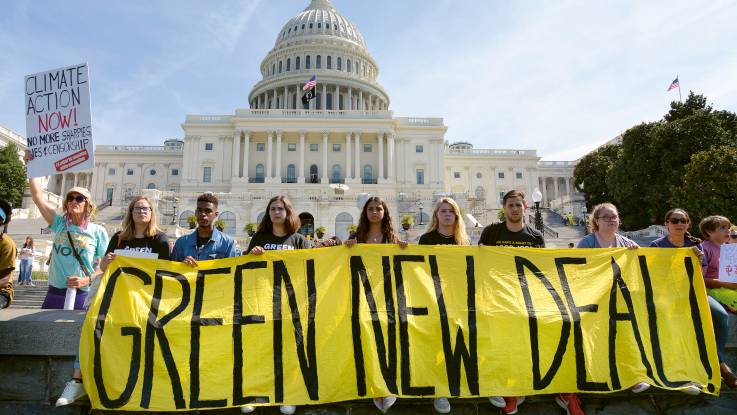
[[[292,202],[285,196],[275,196],[266,205],[266,214],[258,224],[256,234],[251,238],[248,249],[243,255],[261,255],[266,251],[281,251],[312,248],[312,243],[297,232],[300,220],[292,207]],[[241,413],[255,411],[251,405],[241,407]],[[282,405],[279,412],[291,415],[297,410],[294,405]]]

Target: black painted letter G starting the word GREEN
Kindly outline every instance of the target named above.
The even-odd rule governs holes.
[[[107,318],[107,313],[110,310],[110,303],[113,301],[115,283],[118,282],[118,278],[120,278],[121,274],[129,274],[134,277],[138,277],[143,281],[143,285],[151,284],[151,277],[144,271],[133,267],[121,267],[116,269],[112,275],[110,275],[107,285],[105,286],[105,292],[102,294],[100,311],[97,314],[97,321],[95,321],[95,367],[93,369],[93,377],[95,379],[97,393],[100,397],[100,403],[108,409],[120,408],[128,403],[131,395],[133,394],[133,389],[135,389],[136,383],[138,383],[138,374],[141,368],[141,329],[139,327],[122,327],[120,329],[120,334],[123,336],[131,336],[133,344],[133,351],[131,353],[130,366],[128,369],[128,381],[119,397],[113,399],[108,395],[107,389],[105,389],[105,381],[102,378],[102,355],[100,354],[100,342],[102,342],[102,335],[105,331],[105,319]]]

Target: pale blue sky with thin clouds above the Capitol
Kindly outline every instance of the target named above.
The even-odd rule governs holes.
[[[162,145],[187,114],[248,107],[261,60],[308,0],[0,2],[0,125],[23,79],[87,62],[96,144]],[[333,0],[379,64],[390,110],[446,140],[574,160],[678,91],[737,111],[733,1]]]

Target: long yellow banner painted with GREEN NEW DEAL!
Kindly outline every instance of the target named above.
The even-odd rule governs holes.
[[[98,409],[720,386],[688,249],[363,245],[198,268],[117,257],[80,348]]]

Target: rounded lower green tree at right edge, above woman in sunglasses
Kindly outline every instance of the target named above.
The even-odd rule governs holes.
[[[693,223],[709,215],[737,218],[737,146],[700,151],[685,166],[681,184],[673,187],[672,206],[686,209]]]

